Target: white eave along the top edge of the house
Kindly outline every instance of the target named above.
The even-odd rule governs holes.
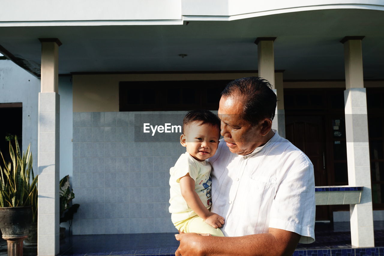
[[[182,25],[184,21],[192,20],[230,21],[281,13],[352,8],[384,10],[384,1],[4,0],[0,27]]]

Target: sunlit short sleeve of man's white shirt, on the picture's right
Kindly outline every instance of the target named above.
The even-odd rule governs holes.
[[[300,234],[299,243],[312,243],[315,210],[313,165],[308,163],[285,174],[272,201],[269,227]]]

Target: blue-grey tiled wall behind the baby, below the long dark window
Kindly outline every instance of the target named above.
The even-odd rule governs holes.
[[[167,142],[134,138],[135,121],[151,123],[159,113],[73,113],[73,203],[80,204],[73,234],[176,231],[168,212],[169,168],[185,152],[180,134]]]

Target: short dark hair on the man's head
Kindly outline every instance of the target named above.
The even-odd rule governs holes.
[[[257,125],[264,118],[275,117],[277,97],[271,84],[258,76],[250,76],[230,81],[221,93],[222,96],[239,96],[243,99],[242,118],[251,125]]]

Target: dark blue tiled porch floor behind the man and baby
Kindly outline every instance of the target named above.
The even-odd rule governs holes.
[[[349,222],[316,223],[316,241],[299,244],[294,256],[384,256],[384,221],[374,221],[376,248],[351,248]],[[60,255],[174,255],[179,242],[175,233],[112,234],[71,236],[60,241]],[[0,242],[0,256],[7,254],[6,242]],[[25,248],[24,255],[33,254]]]

